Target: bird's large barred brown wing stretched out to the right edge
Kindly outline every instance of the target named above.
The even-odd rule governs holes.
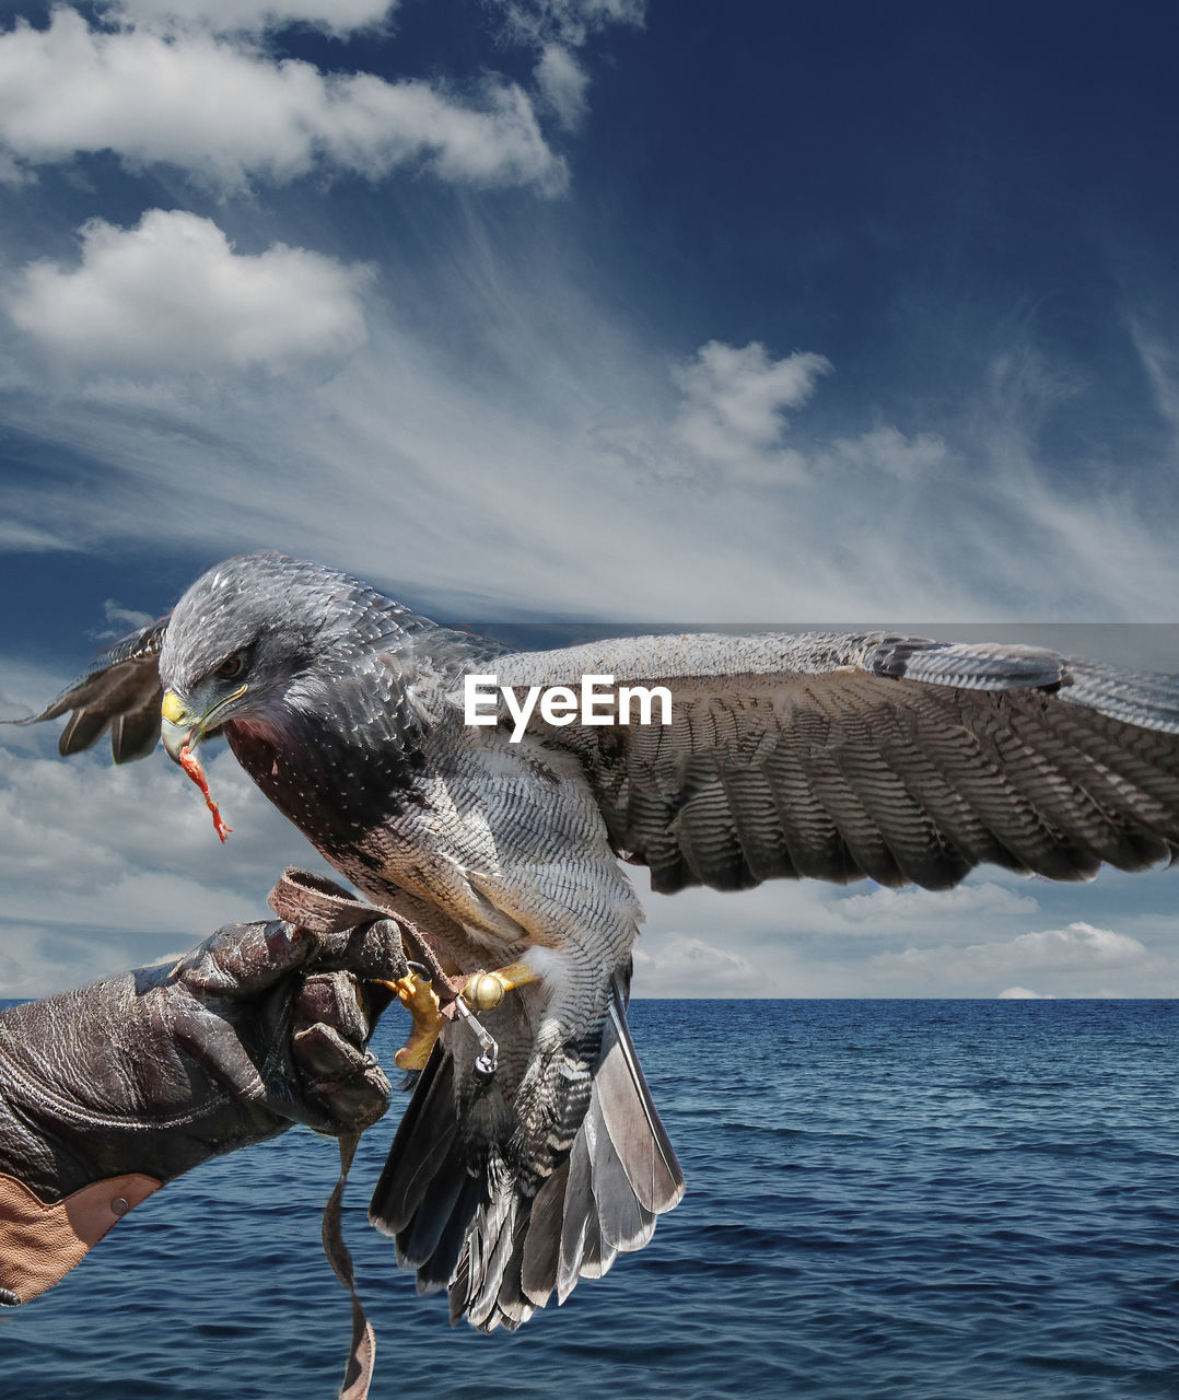
[[[1179,848],[1178,676],[886,633],[629,637],[496,673],[518,693],[582,675],[671,692],[669,725],[559,728],[539,706],[529,724],[581,756],[657,890],[944,889],[986,861],[1085,879]]]

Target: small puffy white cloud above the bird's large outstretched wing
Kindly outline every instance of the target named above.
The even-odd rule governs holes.
[[[710,340],[674,370],[685,398],[675,433],[697,458],[749,482],[788,482],[805,472],[797,451],[780,447],[786,409],[798,409],[832,364],[795,351],[772,360],[756,340],[737,349]]]

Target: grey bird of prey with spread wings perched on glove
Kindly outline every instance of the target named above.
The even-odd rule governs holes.
[[[465,722],[463,678],[664,686],[671,722]],[[162,697],[162,699],[161,699]],[[213,568],[36,720],[116,759],[223,734],[347,879],[455,974],[524,969],[447,1023],[372,1198],[419,1288],[515,1327],[641,1247],[682,1194],[626,1028],[655,890],[812,876],[927,889],[994,862],[1050,879],[1179,848],[1179,678],[886,633],[630,637],[543,652],[438,627],[357,580]],[[618,717],[616,717],[618,718]],[[564,715],[568,721],[570,717]],[[718,938],[723,935],[717,935]]]

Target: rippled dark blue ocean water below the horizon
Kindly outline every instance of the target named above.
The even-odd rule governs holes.
[[[632,1022],[688,1196],[515,1336],[416,1295],[364,1218],[392,1123],[365,1135],[344,1228],[375,1397],[1179,1396],[1179,1002],[641,1001]],[[335,1173],[297,1128],[167,1187],[0,1316],[0,1396],[335,1396]]]

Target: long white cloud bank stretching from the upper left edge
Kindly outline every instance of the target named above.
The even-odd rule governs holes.
[[[321,165],[368,178],[402,165],[476,185],[563,186],[532,105],[486,78],[462,101],[419,80],[322,73],[207,32],[92,29],[57,8],[0,35],[0,143],[17,168],[113,151],[213,185],[288,181]]]

